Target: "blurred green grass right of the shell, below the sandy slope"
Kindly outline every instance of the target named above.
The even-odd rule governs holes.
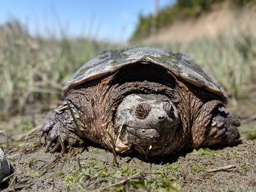
[[[256,83],[256,38],[244,33],[158,45],[189,55],[235,99],[248,99]]]

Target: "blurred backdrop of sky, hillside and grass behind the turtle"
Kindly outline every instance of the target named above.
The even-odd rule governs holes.
[[[139,45],[189,55],[225,88],[230,110],[252,122],[255,36],[255,0],[1,1],[0,120],[19,116],[34,127],[79,66],[102,50]]]

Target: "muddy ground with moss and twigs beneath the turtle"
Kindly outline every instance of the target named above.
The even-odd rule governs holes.
[[[235,106],[235,107],[234,107]],[[241,119],[243,143],[219,150],[148,158],[98,146],[45,153],[40,125],[48,112],[1,122],[0,145],[13,174],[3,191],[256,191],[256,102],[229,107]],[[42,139],[43,142],[43,139]],[[0,191],[1,191],[0,189]]]

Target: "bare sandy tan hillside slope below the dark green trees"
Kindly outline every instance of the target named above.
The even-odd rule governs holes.
[[[191,42],[229,34],[256,34],[256,5],[247,4],[232,9],[229,4],[215,4],[211,12],[198,18],[177,20],[173,25],[160,29],[157,34],[143,39],[146,44]]]

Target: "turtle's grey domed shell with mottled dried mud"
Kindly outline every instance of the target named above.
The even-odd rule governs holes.
[[[170,53],[156,47],[131,47],[123,50],[108,50],[83,64],[64,86],[64,93],[90,80],[96,80],[129,64],[157,64],[165,67],[176,77],[192,85],[227,99],[223,88],[209,77],[192,59],[181,53]]]

